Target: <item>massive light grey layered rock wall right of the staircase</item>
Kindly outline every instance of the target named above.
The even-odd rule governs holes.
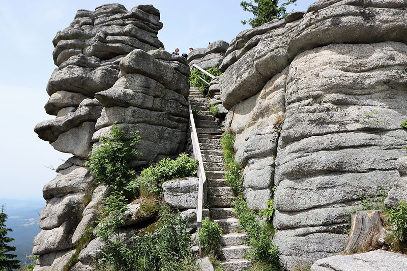
[[[288,268],[343,251],[362,197],[391,190],[390,206],[404,196],[406,8],[319,1],[230,43],[219,80],[226,129],[248,206],[265,208],[276,186],[274,243]]]

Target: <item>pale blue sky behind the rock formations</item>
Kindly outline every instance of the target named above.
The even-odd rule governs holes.
[[[306,10],[314,0],[298,0],[288,10]],[[56,175],[56,168],[72,155],[57,152],[34,133],[47,115],[45,91],[55,69],[52,39],[69,26],[78,9],[95,10],[106,1],[2,1],[0,7],[0,198],[39,200],[42,187]],[[158,38],[165,49],[180,53],[205,48],[209,42],[230,42],[250,28],[242,20],[251,16],[240,0],[120,1],[127,10],[152,4],[160,10],[163,28]],[[1,203],[1,202],[0,202]]]

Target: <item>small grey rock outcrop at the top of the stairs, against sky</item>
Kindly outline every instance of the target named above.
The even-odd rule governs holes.
[[[207,48],[197,48],[188,54],[187,62],[189,66],[196,64],[202,69],[219,67],[225,58],[225,52],[229,44],[225,41],[215,41]]]

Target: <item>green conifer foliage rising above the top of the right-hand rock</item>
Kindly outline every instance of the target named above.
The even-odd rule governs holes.
[[[242,21],[242,24],[250,24],[251,27],[257,27],[273,19],[282,19],[287,16],[286,7],[289,4],[296,3],[297,0],[250,0],[240,2],[244,11],[253,13],[254,18],[248,21]]]

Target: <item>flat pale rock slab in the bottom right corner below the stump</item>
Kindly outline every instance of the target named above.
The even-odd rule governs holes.
[[[332,256],[317,260],[311,271],[382,271],[406,270],[407,256],[384,250]]]

